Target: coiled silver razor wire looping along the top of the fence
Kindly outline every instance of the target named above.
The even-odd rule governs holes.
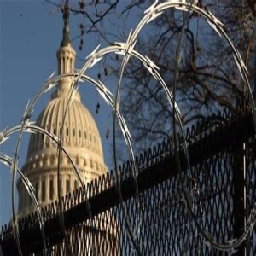
[[[121,189],[120,189],[120,177],[119,177],[119,168],[118,168],[118,159],[117,159],[117,149],[116,149],[116,121],[119,123],[119,126],[121,128],[123,137],[125,139],[125,143],[126,146],[130,152],[131,155],[131,161],[132,161],[132,176],[134,179],[134,183],[136,184],[136,191],[138,191],[137,188],[137,166],[136,166],[136,162],[135,162],[135,157],[134,157],[134,153],[133,153],[133,148],[132,148],[132,143],[131,143],[131,133],[125,123],[125,118],[123,117],[123,115],[119,112],[119,107],[121,105],[121,101],[120,101],[120,90],[121,90],[121,85],[122,85],[122,79],[123,79],[123,73],[125,70],[125,66],[127,65],[127,63],[129,62],[131,57],[135,57],[138,60],[143,62],[143,66],[146,67],[148,69],[148,72],[154,77],[154,79],[157,80],[157,82],[159,82],[160,86],[162,86],[162,88],[165,90],[166,92],[166,96],[167,96],[167,100],[170,104],[170,107],[172,108],[173,111],[173,124],[175,127],[175,124],[177,122],[177,125],[179,126],[181,133],[182,133],[182,137],[183,137],[183,150],[185,153],[185,159],[186,159],[186,164],[187,164],[187,168],[188,171],[190,172],[190,166],[189,166],[189,154],[188,154],[188,148],[187,148],[187,142],[186,142],[186,138],[184,136],[184,131],[183,131],[183,125],[182,125],[182,121],[181,121],[181,112],[180,109],[177,106],[177,102],[175,101],[175,90],[173,92],[171,92],[170,90],[168,90],[168,87],[166,86],[164,80],[161,78],[160,73],[158,72],[158,70],[160,69],[159,67],[157,67],[153,61],[151,61],[148,56],[143,56],[141,54],[139,54],[136,50],[135,50],[135,46],[137,44],[137,37],[139,35],[139,33],[141,32],[141,30],[143,29],[144,26],[146,26],[149,22],[155,20],[157,17],[159,17],[160,15],[162,15],[163,11],[166,9],[179,9],[183,12],[186,12],[187,14],[193,12],[198,13],[199,15],[201,15],[201,17],[203,17],[205,20],[207,20],[207,23],[209,24],[209,26],[212,27],[212,29],[218,33],[218,35],[220,37],[224,37],[224,39],[226,40],[226,42],[230,45],[230,48],[233,51],[233,58],[236,61],[236,66],[239,69],[239,72],[241,73],[241,79],[245,82],[246,86],[247,86],[247,95],[249,96],[249,102],[250,102],[250,107],[252,108],[253,111],[253,119],[255,121],[255,102],[253,100],[253,93],[252,93],[252,89],[251,86],[249,84],[249,81],[247,79],[247,68],[244,64],[244,62],[241,59],[241,55],[239,53],[239,51],[235,48],[235,46],[232,44],[230,38],[228,37],[228,35],[226,34],[226,32],[224,31],[224,24],[222,24],[214,15],[212,15],[212,13],[210,11],[206,11],[204,9],[201,9],[199,7],[197,7],[194,3],[187,3],[186,1],[166,1],[164,3],[160,3],[158,4],[158,1],[155,1],[153,3],[153,5],[151,5],[148,9],[145,10],[144,12],[144,17],[143,19],[139,22],[139,24],[137,25],[136,29],[134,30],[134,32],[130,32],[129,37],[127,38],[127,41],[125,43],[116,43],[113,46],[108,46],[104,49],[99,49],[100,45],[98,47],[96,47],[96,49],[94,51],[92,51],[92,53],[90,55],[87,56],[87,61],[85,61],[84,66],[77,71],[76,73],[68,73],[68,74],[64,74],[64,75],[60,75],[57,77],[54,77],[53,73],[49,79],[46,80],[46,82],[44,83],[43,87],[41,90],[39,90],[38,94],[33,98],[32,103],[28,102],[26,109],[24,111],[23,114],[23,118],[21,120],[21,125],[19,126],[15,126],[15,128],[11,128],[11,129],[5,129],[0,133],[0,144],[4,143],[6,140],[8,140],[8,138],[12,135],[12,133],[14,131],[19,132],[18,138],[17,138],[17,143],[15,146],[15,154],[14,154],[14,158],[10,159],[7,155],[2,154],[0,160],[5,163],[8,164],[8,166],[11,167],[11,171],[12,171],[12,215],[13,215],[13,224],[14,224],[14,231],[15,231],[15,241],[17,243],[17,247],[19,248],[19,253],[20,255],[22,255],[22,252],[20,250],[20,244],[19,244],[19,234],[18,234],[18,226],[15,220],[15,177],[16,177],[16,172],[18,172],[20,174],[20,171],[18,169],[18,156],[19,156],[19,151],[20,151],[20,141],[21,141],[21,137],[22,137],[22,133],[24,131],[28,131],[31,132],[29,129],[31,129],[32,131],[36,131],[36,132],[43,132],[46,136],[51,137],[58,148],[58,177],[60,175],[60,159],[61,159],[61,152],[63,149],[62,147],[62,137],[63,137],[63,131],[61,131],[61,136],[60,137],[55,137],[54,134],[50,134],[49,132],[45,131],[44,129],[40,130],[39,127],[33,126],[31,124],[31,116],[33,113],[33,109],[36,105],[36,103],[38,102],[38,99],[44,95],[44,93],[48,92],[49,90],[53,89],[55,87],[55,85],[58,83],[58,81],[60,81],[61,79],[63,79],[64,77],[72,77],[73,78],[73,83],[71,86],[71,90],[69,92],[68,95],[68,100],[67,100],[67,105],[65,107],[65,113],[62,119],[62,127],[64,125],[65,122],[65,118],[67,115],[67,109],[70,106],[70,104],[73,101],[73,93],[78,90],[79,88],[79,82],[84,82],[87,81],[90,84],[93,84],[94,86],[96,86],[96,90],[98,90],[98,92],[100,93],[100,95],[102,96],[102,98],[111,106],[111,108],[113,109],[113,158],[114,158],[114,170],[115,170],[115,175],[116,175],[116,188],[119,194],[119,202],[120,205],[122,207],[122,211],[124,213],[125,216],[125,224],[126,224],[126,228],[128,230],[128,233],[130,235],[131,241],[133,243],[133,246],[136,248],[137,253],[139,253],[139,247],[137,246],[137,242],[136,242],[136,237],[134,235],[133,230],[131,229],[131,224],[129,222],[128,216],[125,212],[125,208],[123,207],[123,200],[122,200],[122,195],[121,195]],[[186,24],[183,24],[183,27]],[[182,38],[182,36],[181,36]],[[181,40],[182,41],[182,40]],[[181,44],[181,41],[179,44]],[[109,53],[115,53],[118,55],[123,55],[123,61],[120,67],[120,71],[119,71],[119,77],[118,77],[118,81],[116,84],[116,91],[114,96],[112,95],[112,93],[108,90],[107,86],[105,86],[102,81],[99,79],[98,81],[91,79],[90,77],[88,77],[87,75],[85,75],[86,71],[89,70],[91,67],[95,66],[97,62],[101,61],[104,55],[107,55]],[[177,55],[176,55],[176,62],[177,62],[177,57],[179,55],[179,49],[177,48]],[[177,65],[176,65],[177,67]],[[176,74],[177,74],[177,70],[176,70]],[[174,86],[175,88],[175,86]],[[255,124],[254,124],[255,125]],[[63,130],[63,129],[62,129]],[[177,137],[177,131],[174,131],[175,136]],[[178,154],[177,154],[177,150],[178,148],[175,147],[175,151],[176,151],[176,157],[177,157],[177,162],[179,161],[178,159]],[[64,150],[65,154],[67,153]],[[68,153],[67,153],[68,156]],[[70,157],[71,159],[71,157]],[[71,162],[73,162],[71,160]],[[77,168],[75,166],[73,166],[73,169],[76,172],[76,175],[79,177],[79,170],[77,170]],[[178,168],[178,171],[181,173],[181,169]],[[36,198],[34,196],[34,194],[32,193],[32,187],[31,184],[29,183],[29,181],[27,180],[26,176],[22,176],[21,175],[21,179],[22,182],[25,184],[25,188],[27,190],[27,192],[29,193],[30,196],[32,196],[34,203],[36,204],[36,206],[38,206],[38,202],[36,201]],[[59,183],[59,178],[58,178],[58,183]],[[81,186],[84,188],[84,193],[85,193],[85,200],[87,201],[87,197],[86,197],[86,191],[85,191],[85,185],[82,182],[81,177],[79,177],[79,183],[81,183]],[[204,236],[205,241],[207,246],[218,249],[220,251],[225,251],[225,252],[232,252],[236,249],[236,247],[239,247],[242,243],[242,241],[244,241],[246,239],[246,237],[252,233],[253,231],[253,226],[255,225],[256,222],[256,205],[254,204],[253,209],[250,213],[249,218],[247,219],[247,224],[245,227],[245,230],[243,232],[243,234],[239,237],[236,238],[232,241],[226,241],[224,243],[218,243],[217,241],[214,241],[214,239],[212,238],[211,235],[209,235],[209,233],[207,232],[207,230],[204,230],[204,228],[201,226],[201,224],[199,223],[199,221],[197,220],[197,218],[195,217],[195,213],[194,213],[194,207],[193,205],[191,205],[191,199],[189,198],[189,192],[188,190],[185,188],[185,183],[183,182],[183,178],[182,178],[182,189],[183,189],[183,195],[184,195],[184,199],[186,201],[186,206],[189,209],[189,212],[191,214],[191,217],[194,219],[195,224],[197,225],[198,229],[200,230],[202,236]],[[60,186],[58,184],[58,198],[60,201]],[[142,210],[142,208],[140,207],[140,202],[138,202],[138,206],[139,209]],[[91,212],[90,212],[90,205],[89,202],[87,204],[87,210],[90,214],[90,218],[92,218],[91,216]],[[39,218],[39,223],[40,226],[42,227],[42,236],[44,237],[44,222],[42,220],[42,215],[40,210],[37,207],[37,211],[38,211],[38,218]],[[62,210],[60,211],[60,218],[62,218],[63,212]],[[65,230],[65,224],[63,221],[62,222],[62,229],[63,231]]]

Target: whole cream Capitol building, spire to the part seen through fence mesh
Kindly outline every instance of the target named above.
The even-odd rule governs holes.
[[[68,16],[68,5],[66,4],[63,12],[63,38],[61,48],[57,51],[58,73],[60,75],[73,73],[76,56],[69,39]],[[59,158],[57,144],[44,133],[33,133],[30,137],[26,163],[21,172],[32,184],[38,207],[46,207],[59,201],[60,196],[68,196],[70,199],[72,198],[72,191],[78,189],[81,183],[90,183],[91,180],[108,172],[104,163],[99,131],[90,112],[82,104],[78,91],[74,92],[73,101],[67,108],[67,99],[73,85],[73,79],[73,76],[62,76],[49,103],[36,121],[38,127],[43,128],[44,131],[49,131],[55,137],[60,138],[62,135],[61,144],[68,155],[62,152]],[[73,164],[76,166],[79,177],[74,172]],[[35,212],[36,207],[32,197],[27,193],[21,177],[17,180],[17,189],[19,193],[18,217],[22,218],[26,214]],[[81,194],[75,196],[77,195],[80,196]],[[73,201],[68,200],[68,204],[72,207]],[[104,255],[104,250],[109,251],[113,246],[117,252],[114,255],[119,255],[119,224],[111,211],[106,214],[108,219],[104,216],[103,218],[95,216],[96,222],[94,221],[93,226],[90,222],[85,221],[78,227],[69,229],[67,239],[71,239],[70,241],[72,241],[74,234],[77,233],[79,236],[81,232],[84,233],[84,230],[88,233],[86,236],[89,241],[96,241],[99,237],[105,241],[107,237],[103,250],[102,247],[96,248],[93,243],[87,241],[86,247],[84,247],[84,241],[76,239],[75,245],[70,248],[74,255],[78,252],[85,253],[85,251],[89,254],[91,252],[92,254]],[[60,245],[65,246],[64,241],[59,243],[57,247]],[[50,251],[55,254],[55,250],[51,250],[54,247],[50,247]],[[58,250],[56,253],[59,254]]]

